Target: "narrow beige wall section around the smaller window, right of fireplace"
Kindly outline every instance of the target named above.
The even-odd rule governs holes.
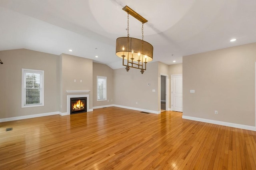
[[[105,64],[93,63],[93,107],[114,104],[113,69]],[[97,101],[97,76],[107,77],[107,100]]]

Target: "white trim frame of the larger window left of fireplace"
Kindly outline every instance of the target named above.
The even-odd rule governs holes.
[[[39,73],[41,75],[41,85],[42,85],[42,91],[40,94],[40,103],[39,104],[30,104],[26,105],[26,90],[25,90],[25,79],[24,72],[28,71],[30,73]],[[44,106],[44,70],[34,70],[34,69],[22,69],[22,83],[21,83],[21,107],[38,107],[38,106]]]

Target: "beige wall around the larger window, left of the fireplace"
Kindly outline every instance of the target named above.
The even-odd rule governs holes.
[[[0,51],[0,118],[58,111],[58,55],[14,49]],[[22,68],[44,70],[44,106],[21,108]]]

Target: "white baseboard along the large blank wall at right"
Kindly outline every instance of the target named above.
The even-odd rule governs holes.
[[[198,117],[190,117],[190,116],[184,116],[184,115],[182,116],[182,119],[189,119],[192,121],[212,123],[212,124],[216,124],[216,125],[222,125],[222,126],[234,127],[234,128],[242,128],[242,129],[246,129],[246,130],[256,131],[256,127],[248,126],[248,125],[240,125],[240,124],[236,124],[236,123],[214,121],[214,120],[210,120],[210,119],[202,119],[202,118],[198,118]]]

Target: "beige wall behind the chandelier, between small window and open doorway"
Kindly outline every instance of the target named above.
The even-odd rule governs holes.
[[[114,70],[114,100],[116,105],[159,111],[158,62],[147,64],[147,70],[141,74],[139,69],[125,68]],[[150,86],[148,86],[150,83]],[[156,92],[152,92],[155,89]],[[159,96],[159,97],[158,97]],[[138,102],[138,104],[136,104]]]

